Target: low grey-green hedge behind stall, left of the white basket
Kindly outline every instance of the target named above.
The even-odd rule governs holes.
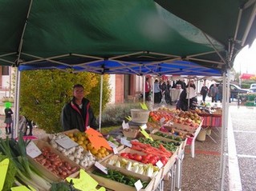
[[[139,103],[108,105],[101,117],[101,126],[122,125],[125,117],[131,116],[131,109],[141,108]]]

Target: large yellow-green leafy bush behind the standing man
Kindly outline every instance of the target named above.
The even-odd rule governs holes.
[[[62,131],[60,114],[63,106],[71,100],[72,86],[75,84],[84,86],[85,96],[92,99],[92,109],[99,110],[95,104],[96,101],[100,102],[99,79],[98,74],[87,72],[73,74],[71,71],[60,70],[24,71],[21,75],[21,113],[36,121],[47,133],[60,132]],[[108,81],[108,78],[104,80]],[[103,92],[103,105],[106,105],[110,94],[108,82],[104,82]]]

